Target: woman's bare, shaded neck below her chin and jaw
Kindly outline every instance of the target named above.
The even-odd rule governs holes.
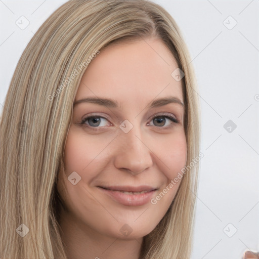
[[[123,240],[104,236],[63,209],[60,227],[68,259],[139,259],[143,238]]]

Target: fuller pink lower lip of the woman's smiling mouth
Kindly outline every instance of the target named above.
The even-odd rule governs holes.
[[[121,203],[125,206],[141,206],[148,202],[150,202],[152,196],[156,192],[156,190],[140,193],[140,194],[126,194],[118,191],[111,191],[107,189],[103,189],[99,187],[104,193],[109,195],[113,200]]]

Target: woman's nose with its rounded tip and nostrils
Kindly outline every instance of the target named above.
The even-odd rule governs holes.
[[[152,151],[147,138],[134,126],[128,133],[120,132],[117,137],[114,166],[138,175],[153,165]]]

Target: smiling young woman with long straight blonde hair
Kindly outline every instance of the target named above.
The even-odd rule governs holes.
[[[160,6],[61,6],[17,65],[0,138],[2,259],[190,258],[196,81]]]

